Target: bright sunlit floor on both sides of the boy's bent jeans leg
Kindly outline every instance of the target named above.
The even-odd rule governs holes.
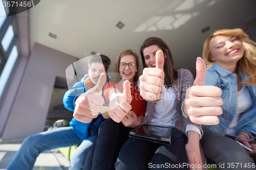
[[[21,142],[0,143],[0,170],[6,170]],[[42,153],[38,156],[33,169],[35,170],[63,170],[69,168],[69,160],[57,149]]]

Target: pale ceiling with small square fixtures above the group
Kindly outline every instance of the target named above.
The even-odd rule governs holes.
[[[139,55],[142,42],[155,36],[169,46],[176,68],[195,75],[203,41],[215,30],[243,29],[256,17],[256,1],[44,0],[29,12],[32,47],[38,42],[79,59],[92,51],[101,53],[110,57],[113,72],[121,51],[130,48]],[[119,21],[125,25],[121,30],[116,27]],[[202,34],[207,26],[210,30]]]

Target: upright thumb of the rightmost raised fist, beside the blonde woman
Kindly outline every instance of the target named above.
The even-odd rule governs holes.
[[[205,74],[206,74],[206,64],[205,61],[201,58],[197,58],[196,62],[197,76],[193,83],[193,86],[205,86]]]

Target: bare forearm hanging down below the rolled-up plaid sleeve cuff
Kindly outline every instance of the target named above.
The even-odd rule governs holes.
[[[200,153],[200,135],[194,131],[187,132],[187,144],[185,145],[185,150],[187,154],[188,163],[200,164],[203,167],[203,162]],[[198,167],[198,166],[197,166]],[[202,168],[196,168],[196,170],[201,170]]]

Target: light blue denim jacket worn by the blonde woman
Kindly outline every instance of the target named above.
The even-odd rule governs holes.
[[[249,80],[241,73],[243,81]],[[225,135],[226,131],[237,111],[237,75],[221,67],[216,63],[207,69],[205,76],[206,85],[217,86],[222,89],[221,98],[223,99],[223,114],[218,116],[219,125],[205,126],[221,135]],[[241,131],[249,131],[256,134],[256,85],[247,86],[252,99],[252,106],[241,114],[238,121],[236,133]]]

